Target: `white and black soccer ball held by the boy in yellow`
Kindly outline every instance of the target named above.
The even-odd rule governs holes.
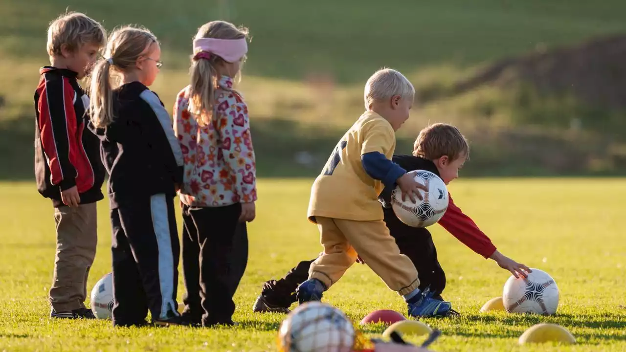
[[[436,224],[448,210],[449,197],[446,184],[430,171],[414,170],[409,173],[414,175],[417,182],[425,185],[428,192],[419,190],[423,199],[418,199],[416,203],[411,202],[408,197],[403,202],[402,191],[396,186],[391,194],[391,207],[398,219],[409,226],[426,227]]]

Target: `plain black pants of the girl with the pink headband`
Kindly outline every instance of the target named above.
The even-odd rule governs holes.
[[[233,296],[248,262],[248,235],[239,222],[241,204],[183,205],[185,314],[204,326],[230,323]]]

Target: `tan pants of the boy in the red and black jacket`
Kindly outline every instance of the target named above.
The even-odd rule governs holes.
[[[96,256],[96,203],[54,209],[56,257],[49,301],[54,311],[85,308],[87,277]]]

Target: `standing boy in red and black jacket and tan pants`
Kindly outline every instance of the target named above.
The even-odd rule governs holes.
[[[78,84],[105,43],[100,23],[81,13],[64,14],[48,28],[51,66],[39,71],[34,93],[35,178],[53,202],[56,222],[53,318],[94,318],[85,307],[89,269],[96,255],[96,202],[103,199],[105,170],[100,140],[86,130],[89,98]]]

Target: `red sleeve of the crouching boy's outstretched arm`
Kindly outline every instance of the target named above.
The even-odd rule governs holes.
[[[439,220],[439,225],[443,226],[469,249],[485,258],[490,257],[496,251],[491,239],[478,228],[468,215],[463,214],[461,209],[454,204],[451,196],[449,196],[448,210]]]

